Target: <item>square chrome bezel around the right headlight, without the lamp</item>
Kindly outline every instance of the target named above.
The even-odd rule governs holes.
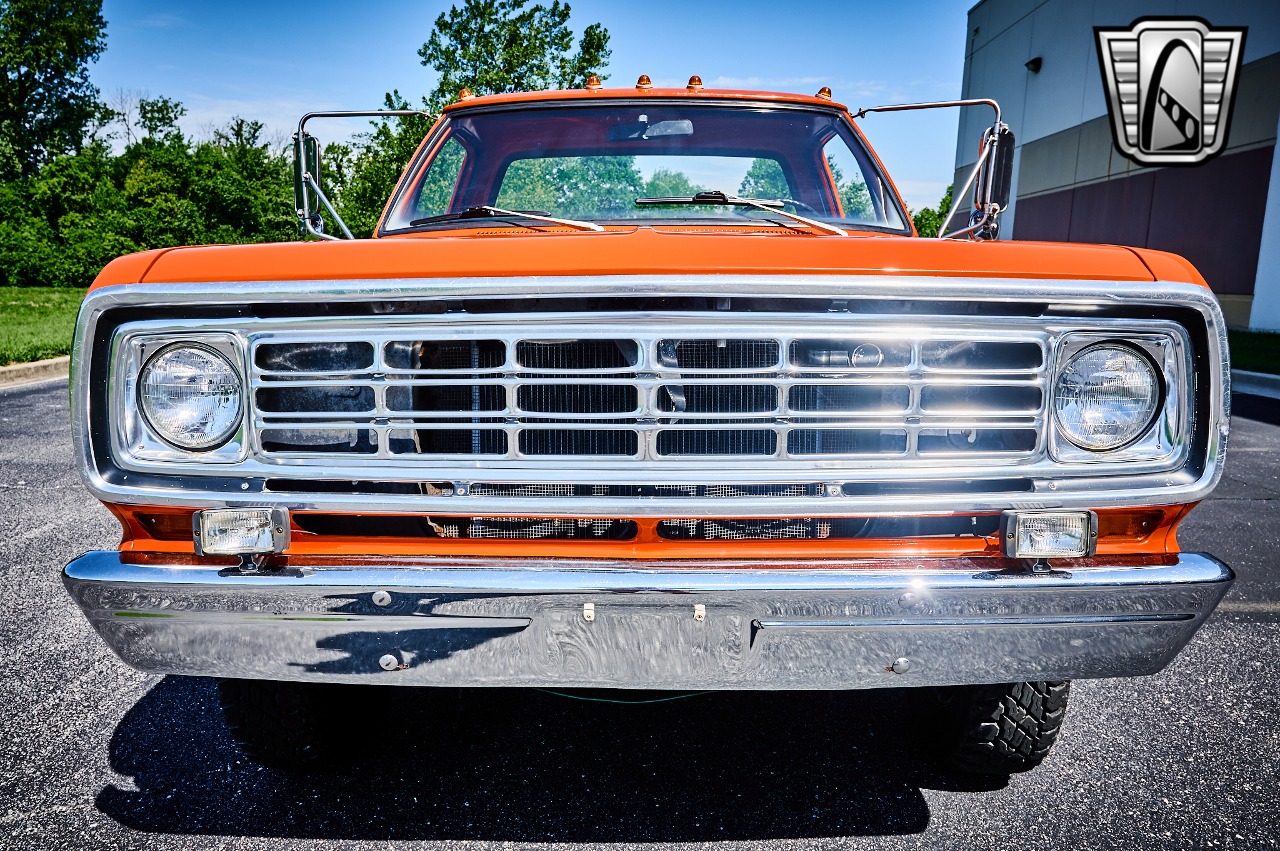
[[[1112,447],[1091,449],[1076,444],[1057,417],[1057,386],[1070,363],[1091,349],[1115,347],[1142,357],[1156,378],[1157,402],[1153,415],[1135,436]],[[1061,463],[1111,463],[1117,461],[1155,461],[1178,463],[1189,452],[1189,403],[1192,399],[1193,365],[1189,342],[1176,333],[1071,331],[1055,347],[1052,371],[1046,398],[1050,457]]]

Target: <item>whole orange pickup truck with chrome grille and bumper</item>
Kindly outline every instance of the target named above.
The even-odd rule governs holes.
[[[826,90],[463,92],[372,239],[306,120],[315,238],[116,260],[72,365],[124,536],[65,585],[259,760],[333,756],[369,683],[915,686],[1009,773],[1233,580],[1175,536],[1221,311],[1174,255],[991,239],[998,110],[943,238]]]

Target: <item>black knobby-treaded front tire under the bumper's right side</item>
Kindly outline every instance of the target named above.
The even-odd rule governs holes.
[[[951,768],[970,774],[1027,772],[1048,755],[1066,715],[1071,683],[1007,682],[942,690],[950,714]]]

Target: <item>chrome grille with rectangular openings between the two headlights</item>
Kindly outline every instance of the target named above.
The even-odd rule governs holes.
[[[847,334],[800,333],[795,316],[785,328],[773,320],[710,333],[707,324],[654,322],[641,334],[639,322],[563,326],[536,316],[512,326],[398,320],[379,333],[259,331],[253,445],[283,463],[532,467],[1007,465],[1042,452],[1047,330],[846,319]]]

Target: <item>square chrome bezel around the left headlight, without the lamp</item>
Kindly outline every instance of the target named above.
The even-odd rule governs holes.
[[[239,412],[236,427],[216,445],[184,448],[170,441],[147,418],[142,410],[142,371],[152,358],[175,347],[201,348],[225,360],[239,384]],[[147,333],[128,334],[115,342],[110,397],[115,408],[111,439],[118,457],[137,461],[234,465],[248,452],[250,386],[246,380],[244,344],[236,334],[212,333]]]

